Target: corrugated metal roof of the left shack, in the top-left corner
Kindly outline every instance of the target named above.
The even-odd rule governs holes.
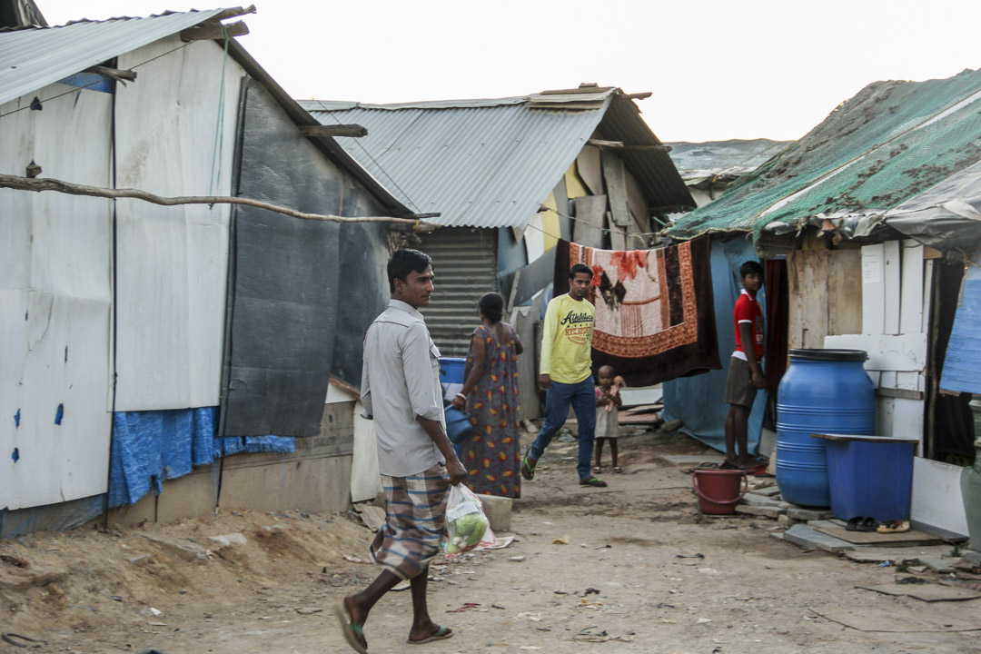
[[[78,22],[0,32],[0,104],[56,82],[224,10]]]

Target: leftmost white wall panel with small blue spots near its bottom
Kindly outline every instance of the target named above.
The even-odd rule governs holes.
[[[10,113],[34,96],[41,111]],[[111,111],[110,94],[63,84],[0,106],[0,172],[33,160],[110,185]],[[111,252],[109,200],[0,189],[0,509],[106,491]]]

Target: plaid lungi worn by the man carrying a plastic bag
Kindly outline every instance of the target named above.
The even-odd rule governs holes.
[[[446,525],[449,481],[437,464],[409,477],[382,476],[385,524],[369,548],[372,560],[400,579],[419,575],[439,554]]]

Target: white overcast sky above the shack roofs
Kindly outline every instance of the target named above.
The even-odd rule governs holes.
[[[50,25],[222,6],[35,1]],[[665,141],[796,139],[869,82],[981,66],[979,0],[255,5],[238,40],[296,98],[494,98],[590,81],[652,91],[640,107]]]

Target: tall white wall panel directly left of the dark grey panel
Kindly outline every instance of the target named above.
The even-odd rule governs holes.
[[[244,71],[226,61],[214,41],[184,44],[179,35],[123,55],[119,67],[158,56],[118,89],[117,186],[168,196],[230,195]],[[212,189],[223,83],[219,175]],[[230,215],[229,205],[119,201],[117,411],[219,403]]]

